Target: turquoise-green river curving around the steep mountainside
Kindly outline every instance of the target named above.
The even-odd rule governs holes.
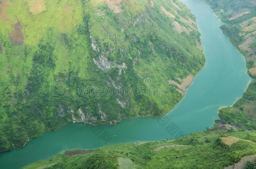
[[[173,139],[203,131],[219,119],[218,110],[231,106],[246,90],[250,77],[246,62],[220,30],[222,23],[205,3],[183,1],[196,16],[206,64],[182,101],[161,119],[125,119],[116,126],[68,124],[49,131],[22,149],[0,154],[0,168],[16,169],[70,149],[96,149],[136,141]]]

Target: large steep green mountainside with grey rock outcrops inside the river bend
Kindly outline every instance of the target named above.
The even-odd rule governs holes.
[[[162,116],[204,65],[178,0],[0,0],[0,152],[68,122]]]

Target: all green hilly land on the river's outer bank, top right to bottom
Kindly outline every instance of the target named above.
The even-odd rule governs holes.
[[[256,167],[256,2],[206,0],[225,23],[230,41],[246,58],[252,82],[232,107],[220,109],[212,129],[177,140],[72,150],[25,166],[48,168],[216,168]],[[233,126],[230,126],[232,124]]]

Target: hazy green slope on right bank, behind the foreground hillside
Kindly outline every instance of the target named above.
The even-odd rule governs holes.
[[[248,69],[256,67],[256,28],[251,31],[244,31],[241,23],[244,21],[251,22],[251,18],[256,17],[256,4],[254,0],[206,0],[209,5],[217,12],[221,20],[226,23],[222,25],[223,32],[230,38],[230,41],[245,56]],[[223,12],[218,12],[220,10]],[[232,16],[243,11],[250,11],[235,20],[229,20]],[[256,24],[256,23],[255,23]],[[239,45],[245,42],[248,37],[254,39],[249,44],[248,50],[243,50]],[[256,77],[252,77],[252,82],[247,91],[243,94],[243,98],[235,103],[232,107],[220,109],[219,116],[221,119],[230,124],[236,124],[245,129],[256,129]]]

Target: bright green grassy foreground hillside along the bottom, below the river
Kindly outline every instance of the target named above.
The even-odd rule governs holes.
[[[223,144],[219,137],[236,136],[251,139],[253,142],[239,140],[231,146]],[[256,154],[256,134],[246,132],[204,131],[185,136],[171,142],[159,141],[146,144],[122,144],[103,147],[88,154],[68,156],[59,154],[51,159],[38,161],[24,169],[52,164],[52,168],[118,168],[120,157],[133,162],[137,168],[214,168],[221,169],[238,162],[243,156]],[[153,151],[159,146],[185,145]],[[76,151],[73,151],[76,152]],[[80,151],[81,153],[81,151]],[[75,154],[75,153],[73,153]],[[119,159],[119,160],[118,160]],[[50,167],[51,168],[51,167]]]

